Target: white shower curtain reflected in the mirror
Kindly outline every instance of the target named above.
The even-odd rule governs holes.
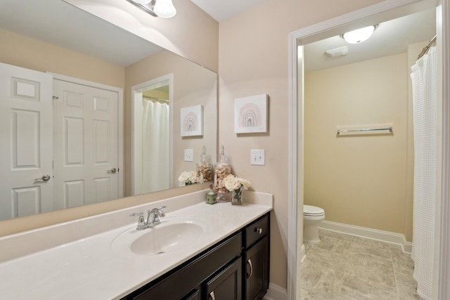
[[[169,169],[169,105],[143,100],[143,193],[167,190]]]

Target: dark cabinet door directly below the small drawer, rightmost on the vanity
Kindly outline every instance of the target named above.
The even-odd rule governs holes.
[[[245,252],[245,300],[262,299],[269,286],[269,239]]]

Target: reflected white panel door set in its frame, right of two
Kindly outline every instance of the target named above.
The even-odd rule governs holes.
[[[54,207],[119,197],[118,94],[53,80]]]

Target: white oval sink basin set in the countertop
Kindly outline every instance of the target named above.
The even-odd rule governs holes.
[[[161,223],[153,228],[136,230],[136,226],[117,235],[111,247],[122,252],[140,255],[162,255],[184,249],[206,232],[209,223],[191,216],[160,218]]]

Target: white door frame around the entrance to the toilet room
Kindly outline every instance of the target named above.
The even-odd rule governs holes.
[[[392,15],[416,6],[439,6],[437,14],[438,46],[442,45],[439,52],[442,65],[442,77],[438,85],[438,93],[442,91],[442,115],[438,115],[442,127],[438,128],[437,147],[437,200],[435,218],[435,263],[434,263],[434,287],[433,294],[436,299],[450,299],[450,0],[386,0],[362,8],[352,13],[341,15],[325,22],[318,23],[302,30],[289,34],[288,41],[288,67],[289,67],[289,132],[288,132],[288,299],[300,299],[300,282],[297,264],[300,264],[304,256],[304,247],[298,242],[302,241],[303,228],[303,58],[297,53],[302,53],[302,44],[308,44],[309,39],[314,39],[318,34],[330,30],[338,30],[345,25],[354,24],[366,18],[376,15]],[[408,6],[408,7],[407,7]],[[438,13],[437,11],[437,13]],[[300,48],[301,51],[298,51]],[[439,59],[439,58],[438,58]],[[300,65],[300,67],[297,67]],[[438,77],[439,78],[439,77]],[[447,84],[446,84],[447,83]],[[297,104],[297,101],[300,102]]]

